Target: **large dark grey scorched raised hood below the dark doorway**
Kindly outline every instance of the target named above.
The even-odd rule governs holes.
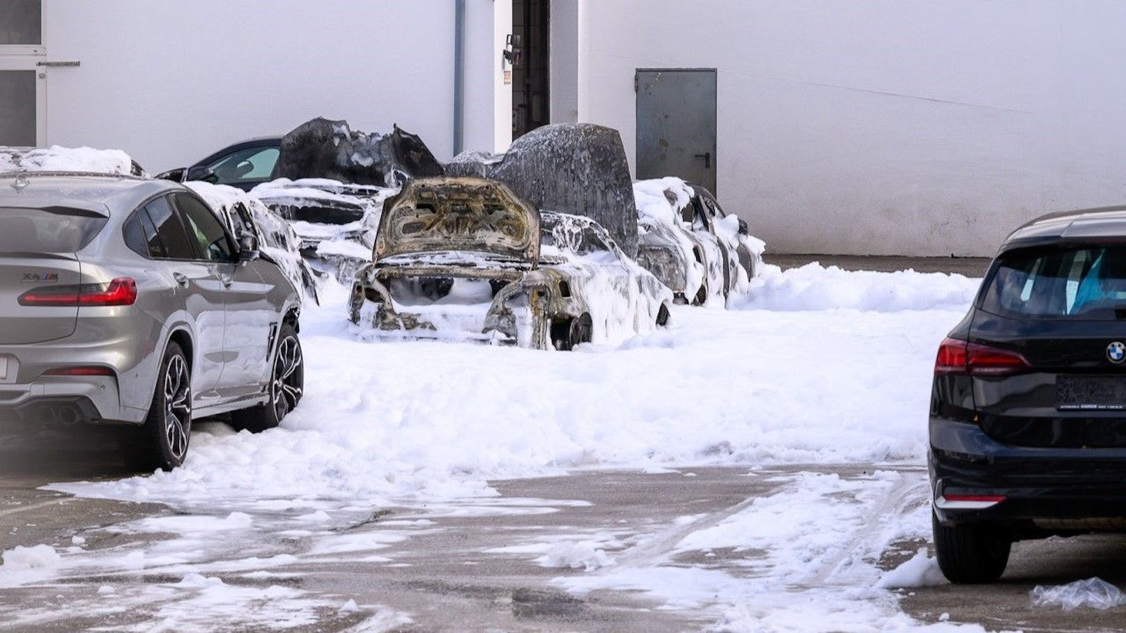
[[[545,125],[513,141],[503,155],[459,154],[446,172],[499,180],[536,208],[590,217],[626,255],[637,255],[637,207],[617,130],[590,123]]]

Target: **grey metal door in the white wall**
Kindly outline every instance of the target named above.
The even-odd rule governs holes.
[[[637,178],[715,191],[715,69],[637,69]]]

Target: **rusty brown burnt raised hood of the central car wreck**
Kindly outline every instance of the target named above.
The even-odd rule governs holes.
[[[477,253],[493,261],[539,261],[539,212],[506,185],[483,178],[413,180],[384,203],[375,261],[402,256]]]

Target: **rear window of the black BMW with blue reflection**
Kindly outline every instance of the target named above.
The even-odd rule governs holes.
[[[1033,318],[1126,318],[1126,246],[1004,253],[982,310]]]

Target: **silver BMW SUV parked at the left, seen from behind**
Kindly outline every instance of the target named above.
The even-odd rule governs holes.
[[[302,396],[301,293],[191,190],[0,175],[0,427],[122,426],[125,463],[184,463],[191,420],[277,426]]]

